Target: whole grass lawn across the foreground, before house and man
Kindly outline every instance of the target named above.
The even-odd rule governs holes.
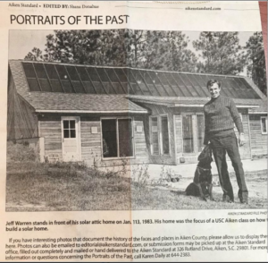
[[[252,189],[262,186],[265,194],[257,191],[248,205],[223,203],[220,191],[214,192],[215,201],[205,202],[183,191],[131,182],[86,165],[41,164],[27,146],[8,143],[6,211],[267,208],[266,173],[249,174]]]

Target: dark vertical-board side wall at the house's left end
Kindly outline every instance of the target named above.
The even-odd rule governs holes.
[[[38,117],[16,92],[13,77],[9,74],[7,98],[7,140],[38,137]]]

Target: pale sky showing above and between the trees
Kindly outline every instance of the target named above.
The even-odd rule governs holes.
[[[190,42],[188,48],[197,53],[192,46],[192,41],[197,40],[200,31],[182,31],[183,34],[188,36]],[[245,46],[248,38],[254,32],[239,32],[240,46]],[[23,59],[25,55],[32,50],[33,47],[38,47],[40,50],[46,48],[46,36],[54,34],[54,30],[10,30],[9,31],[9,59]],[[241,75],[246,75],[246,70],[241,72]]]

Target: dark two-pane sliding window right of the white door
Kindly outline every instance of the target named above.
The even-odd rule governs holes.
[[[103,157],[133,157],[132,120],[103,119]]]

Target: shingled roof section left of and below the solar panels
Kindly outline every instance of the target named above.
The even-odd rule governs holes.
[[[147,109],[131,102],[124,95],[31,91],[21,62],[11,61],[10,69],[18,94],[36,112],[147,113]]]

